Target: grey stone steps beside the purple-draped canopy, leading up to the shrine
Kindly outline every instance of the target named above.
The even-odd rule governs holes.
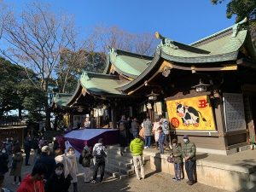
[[[119,179],[135,174],[129,148],[125,148],[125,154],[121,156],[119,146],[108,146],[107,153],[105,172]],[[149,156],[144,157],[144,164],[147,161],[149,161]]]

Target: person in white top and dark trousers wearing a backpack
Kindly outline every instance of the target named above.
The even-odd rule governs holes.
[[[100,182],[102,182],[105,172],[105,157],[107,157],[107,154],[105,152],[105,146],[103,146],[102,138],[100,138],[98,143],[96,143],[93,147],[92,154],[93,156],[95,156],[96,160],[94,165],[93,178],[90,183],[96,183],[96,177],[99,168],[101,170]]]

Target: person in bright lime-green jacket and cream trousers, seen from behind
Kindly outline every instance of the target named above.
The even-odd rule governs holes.
[[[143,149],[144,149],[144,143],[143,140],[141,140],[137,135],[135,135],[135,139],[131,141],[130,144],[130,150],[133,157],[133,164],[135,166],[135,173],[137,176],[137,179],[140,180],[141,178],[145,178],[145,172],[143,167]],[[139,175],[139,168],[141,170],[141,176]]]

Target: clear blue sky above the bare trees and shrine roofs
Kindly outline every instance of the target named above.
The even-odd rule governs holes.
[[[56,13],[73,15],[80,29],[119,26],[132,33],[160,32],[163,36],[189,44],[234,24],[226,18],[226,4],[211,0],[41,0]],[[19,11],[28,0],[3,0]]]

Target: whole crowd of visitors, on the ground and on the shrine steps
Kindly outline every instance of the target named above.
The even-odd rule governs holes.
[[[173,180],[180,181],[183,178],[183,163],[187,172],[188,184],[195,183],[195,143],[189,142],[189,137],[183,137],[183,143],[177,143],[177,139],[170,142],[169,122],[160,117],[156,122],[147,117],[139,124],[137,118],[125,119],[125,115],[119,120],[119,144],[120,154],[124,155],[130,147],[133,156],[133,163],[137,179],[145,178],[143,168],[143,150],[155,148],[160,150],[160,154],[165,154],[165,149],[170,153],[169,159],[174,165]],[[153,140],[153,141],[152,141]],[[153,143],[152,143],[153,142]],[[20,148],[20,142],[13,138],[7,138],[0,146],[0,184],[3,184],[4,175],[9,172],[14,177],[13,184],[18,185],[18,192],[38,191],[38,192],[67,192],[73,185],[73,192],[78,192],[78,162],[76,150],[73,147],[61,148],[55,141],[47,141],[43,136],[27,136],[24,142],[24,150]],[[33,158],[30,157],[33,149]],[[25,160],[23,155],[25,154]],[[79,155],[79,164],[84,169],[84,183],[102,182],[106,165],[106,148],[102,139],[91,149],[84,146]],[[168,160],[169,160],[168,159]],[[31,174],[27,175],[23,181],[21,178],[22,165],[31,166]],[[90,169],[93,167],[93,172]],[[100,169],[100,178],[97,172]]]

